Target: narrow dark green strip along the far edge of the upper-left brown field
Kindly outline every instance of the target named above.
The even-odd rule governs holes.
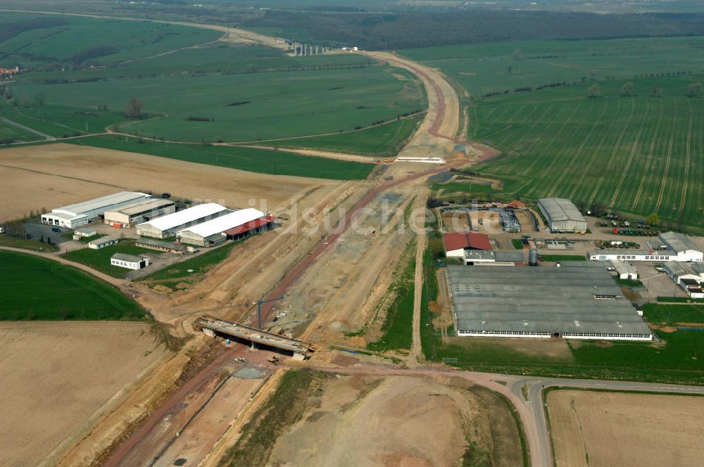
[[[199,164],[218,165],[260,174],[294,175],[334,180],[365,179],[373,164],[315,158],[282,151],[237,146],[161,143],[124,136],[89,136],[70,140],[85,146],[157,155]]]

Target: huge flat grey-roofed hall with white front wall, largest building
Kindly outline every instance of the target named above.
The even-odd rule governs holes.
[[[448,266],[458,335],[653,340],[601,267]]]

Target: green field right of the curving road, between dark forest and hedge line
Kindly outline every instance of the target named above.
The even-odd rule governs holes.
[[[582,77],[601,81],[651,73],[701,72],[704,37],[513,41],[400,53],[445,72],[458,87],[460,97],[478,98],[520,87],[582,82]]]

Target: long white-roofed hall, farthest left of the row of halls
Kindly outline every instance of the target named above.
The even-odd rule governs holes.
[[[108,210],[115,210],[140,200],[146,200],[149,195],[136,191],[120,191],[113,195],[95,198],[75,203],[73,205],[61,206],[51,210],[47,214],[42,214],[42,224],[58,225],[75,229],[76,227],[87,225],[103,217]]]

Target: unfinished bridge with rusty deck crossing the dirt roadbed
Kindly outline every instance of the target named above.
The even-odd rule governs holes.
[[[249,340],[253,343],[276,347],[277,349],[287,350],[288,352],[294,352],[295,359],[306,359],[308,354],[315,350],[302,340],[287,338],[284,335],[268,333],[266,331],[262,331],[261,329],[244,326],[244,324],[237,324],[232,323],[231,321],[225,321],[224,319],[213,318],[213,316],[200,316],[193,326],[196,331],[203,331],[208,335],[215,335],[217,332],[225,335],[231,335],[236,338]]]

